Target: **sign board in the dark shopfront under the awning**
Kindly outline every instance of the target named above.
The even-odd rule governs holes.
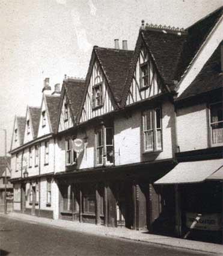
[[[186,226],[200,230],[219,231],[222,230],[222,216],[221,213],[204,213],[198,217],[197,213],[186,213]]]

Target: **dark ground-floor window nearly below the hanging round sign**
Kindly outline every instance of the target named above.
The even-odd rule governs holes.
[[[84,213],[95,214],[95,190],[93,186],[87,186],[83,190],[83,211]]]

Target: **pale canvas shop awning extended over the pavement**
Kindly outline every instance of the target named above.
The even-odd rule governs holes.
[[[223,159],[183,162],[154,184],[200,183],[212,174],[220,174],[217,174],[218,170],[221,170],[222,175]]]

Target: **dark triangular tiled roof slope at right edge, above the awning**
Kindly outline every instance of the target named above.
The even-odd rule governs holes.
[[[190,86],[177,98],[177,101],[211,90],[222,88],[223,75],[221,72],[221,43],[213,52],[209,60],[204,64]]]

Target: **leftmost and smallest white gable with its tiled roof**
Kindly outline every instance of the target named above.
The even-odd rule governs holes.
[[[23,144],[25,132],[25,117],[15,116],[11,149],[15,149]]]

